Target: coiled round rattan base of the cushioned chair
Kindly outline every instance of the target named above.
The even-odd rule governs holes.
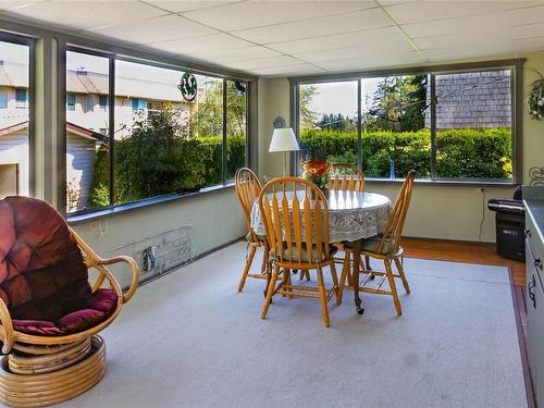
[[[89,345],[89,351],[81,359],[86,344]],[[100,382],[106,372],[106,344],[102,337],[95,335],[90,342],[78,343],[62,353],[71,355],[71,361],[76,362],[47,373],[11,372],[10,356],[3,357],[0,370],[0,401],[10,407],[45,407],[71,399]],[[40,356],[38,359],[44,357]],[[24,357],[17,356],[17,358]]]

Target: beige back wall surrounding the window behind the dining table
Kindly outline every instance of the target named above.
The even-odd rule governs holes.
[[[539,78],[537,74],[530,69],[544,73],[544,52],[500,55],[490,58],[490,60],[498,58],[527,58],[523,72],[523,95],[529,90],[530,84]],[[259,91],[261,98],[259,146],[268,149],[274,118],[281,113],[288,120],[289,83],[286,78],[270,78],[261,79],[260,84],[262,84],[262,89]],[[529,169],[533,165],[544,165],[544,122],[531,120],[526,106],[523,106],[522,131],[523,181],[528,183]],[[270,177],[281,174],[281,158],[273,157],[272,153],[263,150],[259,152],[259,159],[260,175]],[[399,185],[396,183],[369,183],[368,185],[368,190],[385,194],[392,199],[398,188]],[[484,209],[482,209],[480,187],[418,184],[413,189],[405,234],[426,238],[494,242],[495,215],[486,209],[487,199],[511,197],[511,188],[486,187],[483,197]]]

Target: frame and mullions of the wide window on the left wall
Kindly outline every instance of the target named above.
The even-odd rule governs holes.
[[[217,184],[217,185],[210,185],[201,188],[199,191],[196,193],[190,193],[190,194],[177,194],[177,193],[170,193],[165,195],[159,195],[159,196],[153,196],[153,197],[148,197],[144,198],[140,200],[136,201],[129,201],[129,202],[122,202],[122,203],[115,203],[115,182],[114,182],[114,144],[113,144],[113,133],[114,133],[114,123],[115,123],[115,61],[124,61],[124,62],[132,62],[132,63],[138,63],[138,64],[144,64],[144,65],[149,65],[149,66],[156,66],[156,67],[162,67],[162,69],[168,69],[168,70],[175,70],[175,71],[189,71],[194,74],[199,74],[199,75],[205,75],[209,77],[215,77],[219,79],[222,79],[223,82],[223,89],[226,86],[226,83],[228,81],[237,81],[237,82],[243,82],[246,84],[246,154],[245,154],[245,163],[244,165],[248,166],[249,163],[252,162],[252,144],[251,141],[251,131],[252,128],[256,128],[257,125],[252,123],[254,116],[254,109],[250,109],[251,100],[255,98],[254,95],[251,94],[251,89],[254,87],[254,84],[257,83],[257,78],[251,77],[250,75],[244,75],[244,76],[236,76],[236,75],[228,75],[228,74],[222,74],[220,72],[211,72],[202,69],[195,69],[193,66],[189,66],[189,64],[172,64],[172,63],[165,63],[162,62],[160,58],[157,60],[148,60],[148,59],[143,59],[143,58],[134,58],[131,54],[125,54],[125,53],[114,53],[114,52],[109,52],[104,51],[103,49],[96,49],[96,48],[87,48],[85,47],[82,41],[77,41],[75,44],[66,44],[65,47],[63,47],[63,53],[64,53],[64,61],[65,61],[65,53],[66,52],[78,52],[78,53],[84,53],[84,54],[89,54],[89,55],[95,55],[95,57],[102,57],[107,58],[109,60],[109,76],[108,76],[108,82],[109,82],[109,95],[108,95],[108,103],[106,106],[106,109],[109,109],[109,107],[112,107],[109,109],[109,133],[107,134],[108,140],[109,140],[109,160],[108,160],[108,171],[109,171],[109,205],[101,207],[101,208],[96,208],[96,209],[85,209],[85,210],[79,210],[79,211],[74,211],[74,212],[66,212],[66,215],[69,217],[69,221],[72,220],[86,220],[86,219],[94,219],[96,217],[104,217],[109,213],[118,213],[119,211],[126,211],[126,210],[132,210],[134,208],[140,208],[144,206],[148,205],[156,205],[156,203],[161,203],[165,201],[171,201],[171,200],[176,200],[176,199],[182,199],[182,198],[189,198],[189,197],[197,197],[199,195],[207,195],[210,194],[211,191],[215,191],[219,189],[223,188],[232,188],[234,183],[228,182],[226,180],[226,151],[223,151],[223,171],[222,171],[222,183]],[[63,67],[65,71],[65,66]],[[66,96],[67,100],[67,95],[69,92],[66,91],[65,85],[63,86],[64,88],[64,95]],[[143,100],[139,99],[138,100]],[[144,100],[147,102],[146,100]],[[225,112],[226,112],[226,95],[223,95],[223,150],[224,147],[226,146],[226,118],[225,118]],[[67,103],[65,104],[67,107]],[[101,108],[101,107],[100,107]],[[145,108],[147,108],[147,103],[145,103]],[[65,116],[64,116],[65,121]],[[64,139],[64,144],[67,143],[67,139]],[[64,156],[65,160],[65,156]],[[64,182],[66,184],[66,181]]]

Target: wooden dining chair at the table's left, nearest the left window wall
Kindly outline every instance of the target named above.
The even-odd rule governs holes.
[[[234,176],[236,195],[240,202],[242,209],[244,210],[244,217],[246,219],[246,225],[248,233],[246,235],[247,245],[249,248],[249,254],[246,257],[246,265],[238,284],[238,292],[244,289],[247,277],[254,279],[268,279],[268,244],[264,237],[257,235],[257,233],[251,227],[251,208],[261,193],[262,186],[259,182],[257,175],[248,168],[242,168],[236,171]],[[262,256],[262,264],[260,273],[249,273],[251,264],[254,262],[255,254],[257,248],[263,247],[264,254]]]

